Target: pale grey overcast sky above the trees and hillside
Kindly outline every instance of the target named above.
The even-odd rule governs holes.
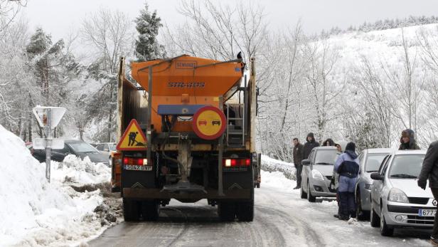
[[[149,9],[156,9],[169,25],[184,21],[176,8],[182,0],[148,0]],[[212,0],[213,2],[216,0]],[[239,0],[218,0],[223,4],[236,4]],[[436,0],[247,0],[265,8],[267,21],[272,28],[292,27],[299,19],[306,33],[319,33],[333,26],[347,28],[364,21],[395,19],[412,16],[438,16]],[[28,0],[23,14],[32,29],[37,26],[53,38],[63,38],[78,29],[87,14],[101,6],[119,9],[134,19],[143,8],[144,0]],[[133,23],[134,25],[134,23]]]

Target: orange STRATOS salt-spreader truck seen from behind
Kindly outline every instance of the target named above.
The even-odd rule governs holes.
[[[207,199],[223,221],[252,221],[258,90],[255,60],[245,66],[183,55],[131,63],[132,82],[121,58],[111,183],[125,221],[154,221],[171,199]]]

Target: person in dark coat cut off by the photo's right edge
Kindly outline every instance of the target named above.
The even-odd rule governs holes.
[[[427,149],[426,156],[423,160],[423,166],[418,176],[418,186],[426,189],[427,179],[429,179],[429,187],[434,195],[434,199],[438,201],[438,141],[432,142]],[[434,219],[434,229],[430,241],[435,246],[438,246],[438,216]]]

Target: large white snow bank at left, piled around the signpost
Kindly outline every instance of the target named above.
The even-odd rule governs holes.
[[[60,179],[100,182],[107,179],[102,167],[86,175],[87,169],[75,171],[80,162],[70,158],[52,169],[49,184],[45,166],[1,125],[0,157],[0,246],[75,246],[105,230],[93,212],[103,201],[100,190],[80,193]]]

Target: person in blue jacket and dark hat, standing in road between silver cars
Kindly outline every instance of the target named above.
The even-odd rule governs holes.
[[[356,154],[356,144],[349,142],[346,151],[336,159],[334,169],[339,174],[339,219],[347,221],[356,218],[356,202],[354,187],[359,173],[359,160]]]

